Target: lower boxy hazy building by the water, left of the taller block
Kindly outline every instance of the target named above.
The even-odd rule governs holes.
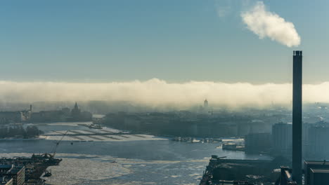
[[[257,153],[271,149],[270,133],[251,133],[245,136],[245,151]]]

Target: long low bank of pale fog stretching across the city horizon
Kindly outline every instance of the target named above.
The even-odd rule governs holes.
[[[272,103],[290,105],[290,83],[221,83],[190,81],[167,83],[157,78],[148,81],[112,83],[55,83],[0,81],[2,102],[47,101],[127,101],[150,107],[172,106],[184,109],[202,104],[207,98],[214,105],[228,107],[266,107]],[[329,102],[329,82],[304,85],[304,102]]]

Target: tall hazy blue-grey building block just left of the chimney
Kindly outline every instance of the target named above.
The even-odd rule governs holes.
[[[272,126],[273,153],[283,156],[291,155],[292,124],[276,123]]]

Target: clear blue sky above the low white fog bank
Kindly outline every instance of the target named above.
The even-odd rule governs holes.
[[[288,48],[247,30],[247,0],[21,0],[0,2],[0,79],[13,81],[329,81],[329,1],[268,0],[302,43]],[[226,7],[219,17],[217,8]]]

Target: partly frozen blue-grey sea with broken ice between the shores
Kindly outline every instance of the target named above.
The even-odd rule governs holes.
[[[76,123],[40,125],[49,133],[86,130]],[[47,184],[199,184],[211,155],[236,159],[269,159],[246,155],[243,151],[222,151],[220,143],[174,142],[160,137],[127,139],[122,142],[79,142],[63,140],[56,156],[63,158],[58,166],[49,167]],[[0,156],[31,156],[51,152],[56,141],[1,140]]]

